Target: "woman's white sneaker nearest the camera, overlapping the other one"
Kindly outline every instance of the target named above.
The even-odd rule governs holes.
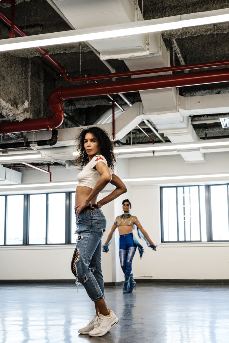
[[[103,336],[105,333],[111,330],[111,328],[117,324],[118,318],[115,316],[114,312],[111,311],[111,316],[106,317],[99,315],[99,319],[94,326],[94,329],[89,332],[89,336],[98,337]]]

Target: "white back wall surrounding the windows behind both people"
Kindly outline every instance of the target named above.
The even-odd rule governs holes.
[[[203,163],[185,163],[178,155],[118,159],[117,174],[121,178],[171,176],[191,174],[228,173],[228,153],[206,154]],[[53,168],[53,178],[74,180],[78,171]],[[23,172],[23,182],[44,182],[48,175],[38,171]],[[33,181],[32,181],[33,180]],[[167,184],[174,184],[168,180]],[[182,180],[176,184],[225,183],[228,179],[208,178]],[[163,181],[165,184],[165,181]],[[133,274],[136,278],[156,280],[229,280],[229,243],[160,243],[160,185],[155,181],[127,182],[127,193],[107,204],[102,209],[107,218],[107,230],[117,215],[122,213],[122,200],[129,198],[131,213],[136,215],[149,236],[158,245],[154,252],[142,242],[145,253],[140,260],[136,251]],[[111,189],[111,187],[109,188]],[[71,189],[70,189],[71,190]],[[108,188],[107,188],[108,190]],[[24,190],[22,189],[21,192]],[[27,190],[28,191],[28,190]],[[40,189],[39,191],[42,191]],[[46,191],[46,190],[45,190]],[[4,194],[6,191],[0,192]],[[104,196],[105,194],[101,194]],[[136,234],[136,232],[135,232]],[[0,247],[0,280],[74,280],[70,263],[74,245],[45,247]],[[123,280],[118,260],[118,234],[108,254],[102,253],[102,267],[105,282]]]

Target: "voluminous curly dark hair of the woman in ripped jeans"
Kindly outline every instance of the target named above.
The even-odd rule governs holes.
[[[114,164],[116,162],[115,155],[114,155],[114,144],[110,140],[106,131],[101,129],[98,126],[88,127],[87,129],[82,129],[76,141],[78,143],[78,151],[79,155],[75,158],[76,165],[84,167],[88,162],[89,158],[84,149],[84,138],[87,133],[93,134],[93,136],[98,139],[100,153],[106,158],[108,168],[114,168]]]

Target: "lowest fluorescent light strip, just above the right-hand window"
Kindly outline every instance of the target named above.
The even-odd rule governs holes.
[[[229,177],[229,173],[225,174],[202,174],[202,175],[178,175],[178,176],[153,176],[153,177],[136,177],[130,179],[123,179],[123,182],[131,181],[165,181],[165,180],[184,180],[184,179],[207,179],[216,177]]]

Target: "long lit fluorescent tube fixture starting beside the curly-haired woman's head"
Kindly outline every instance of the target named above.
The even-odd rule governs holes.
[[[181,149],[198,149],[198,148],[204,148],[204,147],[212,147],[212,146],[225,146],[229,145],[229,140],[222,140],[214,142],[214,140],[209,141],[197,141],[197,142],[191,142],[191,143],[159,143],[159,144],[152,144],[150,146],[137,146],[134,147],[134,145],[131,145],[126,148],[120,148],[116,147],[114,149],[115,153],[132,153],[132,152],[144,152],[144,151],[161,151],[161,150],[181,150]]]

